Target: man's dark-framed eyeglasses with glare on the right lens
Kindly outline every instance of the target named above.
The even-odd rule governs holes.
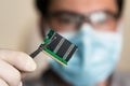
[[[48,15],[48,24],[55,30],[76,30],[83,23],[91,25],[96,30],[115,29],[118,16],[112,12],[100,11],[88,15],[73,12],[54,12]]]

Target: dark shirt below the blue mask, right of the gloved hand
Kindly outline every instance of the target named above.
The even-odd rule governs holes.
[[[26,81],[23,86],[73,86],[49,69],[39,80]]]

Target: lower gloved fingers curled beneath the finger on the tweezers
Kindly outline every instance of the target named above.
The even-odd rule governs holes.
[[[0,60],[0,78],[6,82],[9,86],[18,86],[21,82],[21,73],[9,63]]]

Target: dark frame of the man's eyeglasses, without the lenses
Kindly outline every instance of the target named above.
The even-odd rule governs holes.
[[[88,15],[82,15],[82,14],[78,14],[78,13],[70,12],[70,11],[55,11],[55,12],[48,13],[47,16],[46,16],[46,19],[49,23],[50,19],[53,18],[53,17],[58,17],[61,15],[68,14],[73,17],[77,17],[77,22],[76,22],[77,23],[77,28],[79,28],[82,25],[82,22],[84,22],[84,20],[88,22],[89,24],[91,24],[91,20],[90,20],[91,14],[100,13],[100,12],[103,12],[103,13],[112,16],[115,20],[118,20],[118,18],[119,18],[118,14],[113,13],[110,11],[95,11],[95,12],[92,12]]]

